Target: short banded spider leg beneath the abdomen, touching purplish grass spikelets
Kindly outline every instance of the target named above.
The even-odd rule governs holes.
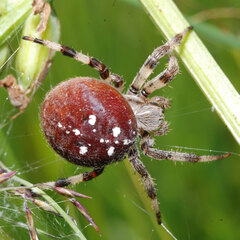
[[[77,184],[80,182],[90,181],[93,178],[96,178],[97,176],[102,174],[103,170],[104,170],[104,167],[103,168],[94,168],[93,171],[91,171],[91,172],[80,173],[76,176],[72,176],[69,178],[62,178],[62,179],[57,180],[56,182],[48,182],[48,183],[46,183],[46,185],[49,185],[52,187],[66,187],[70,184]]]

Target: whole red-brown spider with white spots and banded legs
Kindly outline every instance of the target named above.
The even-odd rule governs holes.
[[[89,181],[102,174],[105,166],[123,160],[128,155],[134,170],[141,176],[159,224],[162,223],[153,179],[140,160],[137,139],[143,154],[155,159],[181,162],[207,162],[228,157],[198,156],[191,153],[159,150],[153,147],[153,136],[167,132],[164,111],[169,100],[148,96],[166,86],[178,73],[178,62],[173,50],[192,29],[188,27],[146,59],[126,94],[122,94],[123,79],[110,73],[99,60],[47,40],[24,36],[52,50],[96,69],[101,77],[76,77],[60,83],[46,96],[41,109],[41,125],[52,148],[68,161],[93,171],[49,182],[50,186],[65,187]],[[167,68],[147,81],[160,58],[169,54]]]

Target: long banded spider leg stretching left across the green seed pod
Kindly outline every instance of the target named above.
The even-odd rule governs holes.
[[[72,57],[77,61],[82,62],[83,64],[89,65],[90,67],[96,69],[99,72],[99,75],[102,80],[105,80],[109,83],[110,82],[113,83],[113,85],[116,88],[121,88],[123,86],[122,77],[120,77],[117,74],[111,74],[108,68],[96,58],[89,57],[87,55],[82,54],[81,52],[75,51],[70,47],[63,46],[59,43],[51,42],[48,40],[42,40],[42,39],[32,38],[28,36],[24,36],[23,39],[44,45],[49,49],[61,52],[65,56]]]

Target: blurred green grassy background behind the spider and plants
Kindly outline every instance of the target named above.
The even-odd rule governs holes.
[[[176,3],[192,23],[195,14],[207,9],[233,8],[239,11],[240,8],[239,0],[179,0]],[[54,6],[61,22],[61,43],[102,60],[112,72],[124,77],[126,88],[146,57],[165,41],[137,0],[58,0],[54,1]],[[239,91],[240,14],[223,18],[221,11],[217,12],[220,17],[196,23],[194,27]],[[234,41],[237,44],[233,44]],[[165,57],[155,74],[165,67],[166,62]],[[142,156],[155,179],[163,222],[177,239],[240,239],[239,145],[212,111],[180,59],[179,62],[181,73],[170,86],[157,92],[169,97],[172,107],[166,112],[171,131],[156,138],[156,147],[197,154],[218,154],[216,151],[233,154],[227,159],[204,164],[160,162]],[[39,121],[39,110],[46,92],[57,83],[75,76],[98,77],[98,73],[71,58],[56,54],[30,106],[1,130],[0,159],[32,183],[57,180],[88,170],[56,155],[47,145]],[[7,102],[2,99],[6,98],[6,93],[3,89],[0,93],[4,102],[0,116],[4,119]],[[101,238],[64,198],[56,194],[52,196],[69,210],[87,239],[172,239],[156,224],[151,202],[126,160],[108,166],[99,178],[75,186],[74,190],[93,197],[80,202],[99,226]],[[24,226],[23,201],[5,193],[1,193],[0,201],[0,239],[29,239]],[[78,239],[60,218],[31,204],[30,208],[37,228],[48,233],[40,234],[41,240]]]

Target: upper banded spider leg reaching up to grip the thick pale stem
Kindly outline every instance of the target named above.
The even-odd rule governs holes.
[[[183,30],[183,32],[175,35],[172,39],[166,42],[164,45],[156,48],[151,55],[146,59],[145,63],[141,67],[140,71],[134,78],[129,90],[128,94],[138,94],[139,90],[143,86],[144,82],[148,79],[148,77],[152,74],[153,70],[157,66],[159,60],[171,52],[176,46],[178,46],[182,38],[190,31],[192,27],[188,27]]]

